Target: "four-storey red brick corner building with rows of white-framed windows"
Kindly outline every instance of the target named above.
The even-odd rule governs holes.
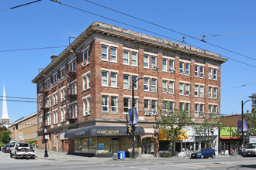
[[[111,156],[131,151],[126,116],[135,86],[138,127],[136,154],[157,154],[157,110],[188,110],[196,123],[220,116],[219,54],[93,22],[34,79],[37,84],[39,148],[47,128],[50,150]],[[167,106],[170,108],[167,108]],[[191,128],[175,141],[175,153],[204,144]],[[213,133],[217,150],[218,133]],[[192,146],[192,148],[191,148]],[[186,149],[187,150],[187,149]]]

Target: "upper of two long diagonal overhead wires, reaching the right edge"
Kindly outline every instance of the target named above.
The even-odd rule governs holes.
[[[91,1],[88,1],[88,0],[85,0],[85,2],[89,2],[89,3],[92,3],[92,4],[94,4],[94,5],[99,5],[99,4],[95,3],[95,2],[91,2]],[[101,6],[102,8],[108,8],[109,10],[112,10],[112,11],[114,11],[114,12],[118,12],[118,13],[120,13],[120,14],[129,16],[129,17],[131,17],[131,18],[133,18],[133,19],[137,19],[137,20],[140,20],[140,21],[142,21],[142,22],[147,22],[147,23],[149,23],[149,24],[151,24],[151,25],[153,25],[153,26],[157,26],[157,27],[160,27],[160,28],[162,28],[162,29],[167,29],[167,30],[169,30],[169,31],[171,31],[171,32],[175,32],[175,33],[181,34],[182,36],[187,36],[187,37],[189,37],[189,38],[198,40],[198,41],[200,41],[200,42],[202,41],[201,39],[196,39],[195,37],[189,36],[189,35],[187,35],[187,34],[185,34],[185,33],[175,31],[174,29],[169,29],[169,28],[167,28],[167,27],[165,27],[165,26],[158,25],[158,24],[156,24],[156,23],[154,23],[154,22],[149,22],[149,21],[147,21],[147,20],[145,20],[145,19],[140,19],[140,18],[138,18],[138,17],[136,17],[136,16],[129,15],[129,14],[126,14],[126,13],[124,13],[124,12],[117,11],[116,9],[109,8],[109,7],[106,7],[106,6],[104,6],[104,5],[99,5],[99,6]],[[202,41],[202,42],[205,42],[205,41]],[[217,48],[226,50],[226,51],[228,51],[228,52],[230,52],[230,53],[235,53],[235,54],[237,54],[237,55],[239,55],[239,56],[244,56],[244,57],[246,57],[246,58],[248,58],[248,59],[256,60],[256,59],[254,59],[254,58],[252,58],[252,57],[250,57],[250,56],[246,56],[246,55],[244,55],[244,54],[234,52],[233,50],[224,48],[224,47],[222,47],[222,46],[218,46],[218,45],[215,45],[215,44],[210,43],[210,42],[206,42],[206,43],[209,44],[209,45],[211,45],[211,46],[215,46],[215,47],[217,47]]]

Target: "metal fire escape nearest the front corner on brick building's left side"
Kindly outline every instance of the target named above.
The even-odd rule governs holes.
[[[77,79],[77,62],[74,60],[66,66],[65,73],[67,75],[67,88],[65,91],[66,98],[66,121],[70,124],[74,124],[78,121],[78,111],[77,107],[72,104],[77,100],[77,83],[74,80]]]

